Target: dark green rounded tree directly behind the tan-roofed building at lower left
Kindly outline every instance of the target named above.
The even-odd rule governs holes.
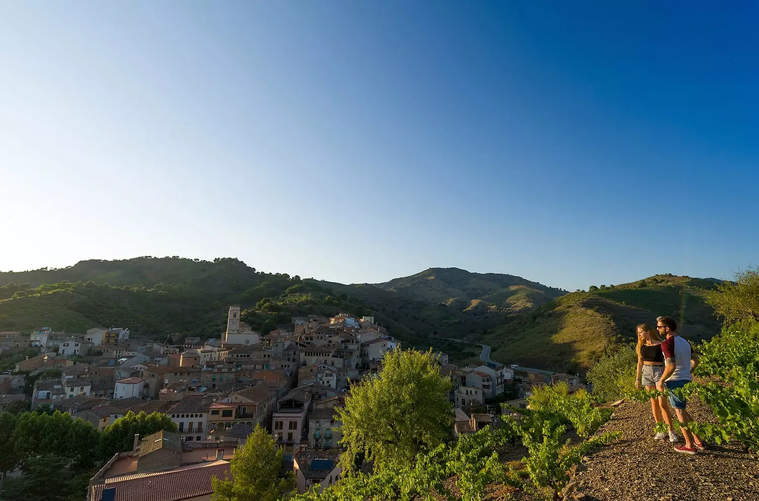
[[[158,412],[134,414],[129,411],[124,417],[115,420],[112,425],[106,426],[103,430],[100,436],[102,458],[109,459],[118,452],[131,451],[134,446],[134,435],[137,433],[144,438],[161,430],[175,432],[178,430],[177,423],[174,423],[166,414]]]

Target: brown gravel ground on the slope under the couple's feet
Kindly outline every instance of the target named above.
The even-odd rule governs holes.
[[[694,420],[713,420],[701,402],[689,401]],[[572,475],[568,499],[584,501],[757,501],[759,462],[737,442],[707,444],[706,452],[675,452],[669,440],[653,439],[650,405],[624,402],[600,431],[621,431]],[[680,437],[682,443],[682,436]]]

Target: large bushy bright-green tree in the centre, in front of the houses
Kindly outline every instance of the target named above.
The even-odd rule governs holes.
[[[343,468],[364,455],[375,468],[412,465],[418,454],[446,442],[453,425],[451,382],[441,376],[432,350],[392,350],[379,375],[351,389],[338,408],[346,448]]]

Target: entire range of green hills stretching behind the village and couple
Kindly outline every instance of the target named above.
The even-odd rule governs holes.
[[[429,268],[383,284],[345,285],[263,273],[235,258],[90,260],[0,272],[0,331],[118,324],[150,338],[214,338],[229,304],[240,304],[242,318],[262,330],[291,316],[346,311],[375,316],[405,344],[433,346],[459,363],[474,362],[482,342],[504,363],[581,371],[657,315],[682,321],[689,338],[710,338],[720,323],[704,296],[715,283],[656,275],[568,293],[509,274]]]

